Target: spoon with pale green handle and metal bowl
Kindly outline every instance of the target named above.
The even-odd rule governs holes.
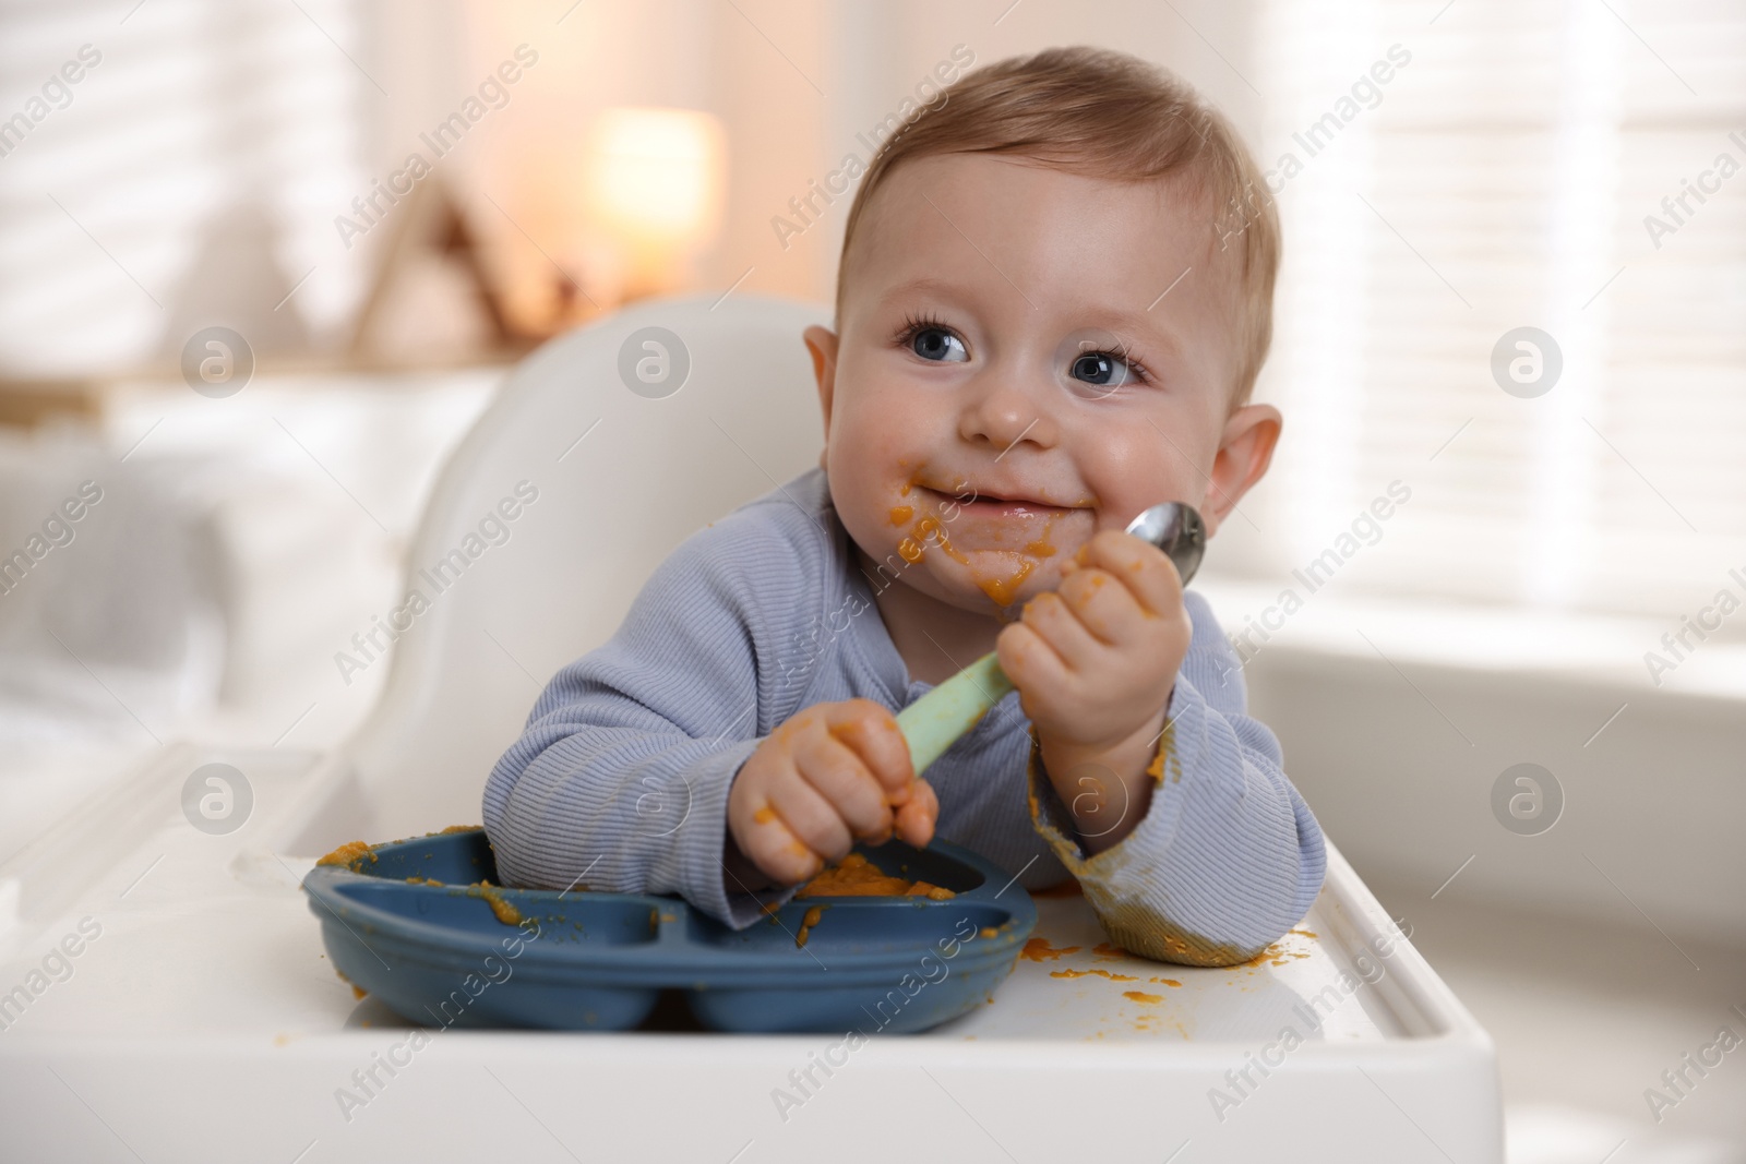
[[[1154,504],[1128,522],[1126,532],[1163,550],[1182,576],[1184,586],[1194,578],[1206,551],[1206,524],[1194,506],[1179,501]],[[920,777],[924,768],[939,759],[941,752],[974,728],[976,721],[1013,689],[1013,681],[1000,670],[999,656],[990,651],[897,712],[897,728],[910,742],[915,775]]]

